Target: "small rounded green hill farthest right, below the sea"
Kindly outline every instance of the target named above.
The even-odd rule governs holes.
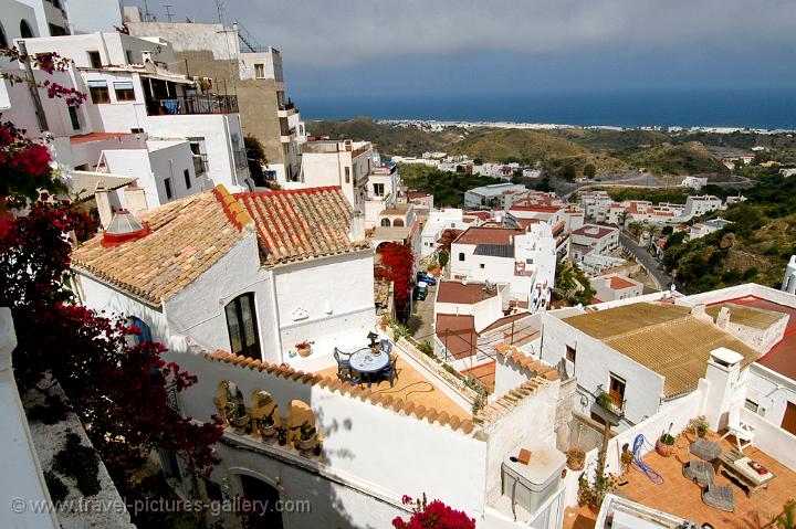
[[[663,144],[637,150],[625,157],[633,167],[646,168],[656,174],[726,174],[730,170],[699,141],[682,145]]]

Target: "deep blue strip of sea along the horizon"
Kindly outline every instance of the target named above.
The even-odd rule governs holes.
[[[462,95],[302,95],[305,119],[437,119],[617,127],[796,129],[796,89],[545,92]]]

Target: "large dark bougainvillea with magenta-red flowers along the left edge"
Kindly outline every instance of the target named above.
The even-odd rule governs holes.
[[[53,97],[81,102],[67,89],[55,89]],[[72,237],[92,235],[96,220],[73,203],[39,194],[63,189],[42,144],[11,124],[0,127],[0,201],[25,207],[18,210],[24,214],[0,215],[0,306],[11,308],[15,324],[20,388],[46,392],[45,380],[59,382],[70,400],[63,405],[77,414],[123,495],[154,448],[180,454],[189,472],[209,475],[220,422],[197,425],[168,405],[168,392],[185,390],[196,378],[167,364],[160,343],[133,345],[139,330],[123,317],[75,305],[67,282]]]

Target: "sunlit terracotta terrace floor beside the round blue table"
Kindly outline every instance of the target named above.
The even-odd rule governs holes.
[[[440,413],[448,412],[449,415],[458,416],[462,421],[465,419],[472,420],[472,413],[453,402],[400,356],[398,357],[397,370],[398,378],[395,380],[394,387],[390,388],[389,381],[383,380],[378,384],[374,383],[370,390],[374,393],[401,399],[407,403],[433,408]],[[337,367],[326,368],[318,371],[318,374],[337,377]],[[367,388],[367,384],[363,384],[363,387]]]

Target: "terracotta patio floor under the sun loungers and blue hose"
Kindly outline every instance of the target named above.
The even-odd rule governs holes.
[[[698,485],[689,482],[682,475],[682,464],[689,461],[688,445],[692,441],[690,435],[681,435],[675,444],[675,453],[671,457],[662,457],[654,451],[643,457],[647,466],[657,470],[663,483],[656,485],[636,467],[622,476],[619,487],[622,495],[629,499],[643,504],[653,509],[662,510],[698,523],[710,522],[715,528],[763,529],[772,527],[772,520],[782,512],[783,505],[790,498],[796,498],[796,473],[781,465],[764,452],[748,447],[744,455],[760,462],[763,466],[776,474],[776,477],[764,489],[752,498],[746,497],[744,489],[731,483],[723,475],[718,475],[714,482],[719,485],[731,485],[735,495],[735,512],[723,512],[708,507],[701,497]],[[709,434],[711,441],[718,441],[719,435]],[[724,440],[721,442],[724,452],[732,449],[732,444]],[[696,457],[694,457],[696,458]],[[564,515],[565,529],[580,529],[594,527],[597,515],[587,507],[567,508]]]

